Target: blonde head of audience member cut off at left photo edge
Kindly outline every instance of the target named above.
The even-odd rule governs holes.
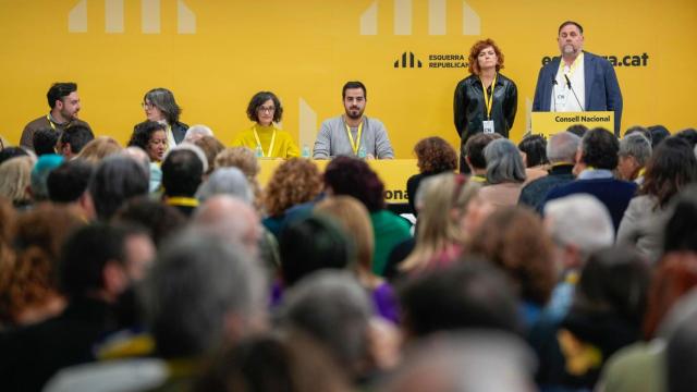
[[[32,168],[35,159],[29,156],[12,158],[0,164],[0,197],[12,201],[15,208],[32,206]]]

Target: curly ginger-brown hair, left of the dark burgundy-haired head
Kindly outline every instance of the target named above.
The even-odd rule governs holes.
[[[264,195],[264,205],[271,217],[309,201],[322,188],[317,166],[304,158],[291,158],[276,169]]]

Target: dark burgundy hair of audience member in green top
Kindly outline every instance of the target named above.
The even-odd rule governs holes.
[[[337,157],[325,169],[325,185],[334,195],[357,198],[368,211],[384,208],[384,184],[368,163],[352,157]]]

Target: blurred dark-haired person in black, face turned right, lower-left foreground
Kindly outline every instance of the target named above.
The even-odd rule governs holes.
[[[89,362],[93,345],[121,329],[117,304],[145,266],[130,260],[125,229],[101,223],[84,226],[65,241],[58,262],[66,308],[57,317],[0,339],[3,387],[11,391],[40,391],[58,370]]]

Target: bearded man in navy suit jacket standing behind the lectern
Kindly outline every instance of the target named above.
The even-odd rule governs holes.
[[[557,40],[561,58],[540,70],[533,111],[614,111],[619,137],[622,91],[612,64],[583,50],[584,28],[576,22],[562,23]]]

